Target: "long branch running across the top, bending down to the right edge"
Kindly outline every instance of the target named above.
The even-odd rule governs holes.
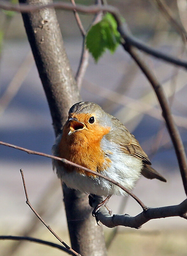
[[[119,10],[111,5],[104,5],[104,6],[100,6],[100,5],[90,5],[90,6],[84,6],[84,5],[76,5],[73,6],[72,4],[68,4],[68,3],[62,3],[62,2],[54,2],[54,3],[50,3],[50,4],[45,4],[45,5],[27,5],[27,4],[20,4],[20,5],[16,5],[16,4],[10,4],[7,3],[5,1],[0,1],[0,8],[3,10],[10,10],[10,11],[16,11],[16,12],[22,12],[22,13],[26,13],[26,12],[36,12],[38,10],[41,9],[45,9],[45,8],[56,8],[56,9],[63,9],[63,10],[67,10],[67,11],[78,11],[78,12],[83,12],[83,13],[97,13],[100,11],[103,12],[110,12],[114,18],[116,19],[117,23],[118,23],[118,30],[119,33],[121,34],[121,36],[124,38],[124,40],[128,43],[130,43],[131,45],[135,46],[136,48],[138,48],[139,50],[142,50],[156,58],[160,58],[163,59],[169,63],[178,65],[178,66],[182,66],[184,68],[187,68],[187,62],[184,60],[180,60],[178,58],[174,58],[172,56],[169,56],[167,54],[164,54],[158,50],[154,50],[151,47],[148,47],[147,45],[145,45],[144,43],[141,43],[140,41],[138,41],[137,39],[135,39],[133,36],[131,36],[128,32],[128,29],[126,28],[126,26],[123,26],[120,20],[120,13]]]

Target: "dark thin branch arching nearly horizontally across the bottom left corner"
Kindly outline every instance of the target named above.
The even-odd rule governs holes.
[[[73,252],[70,252],[67,248],[65,248],[64,246],[60,245],[60,244],[55,244],[49,241],[45,241],[45,240],[41,240],[38,238],[33,238],[33,237],[20,237],[20,236],[0,236],[0,239],[2,240],[25,240],[25,241],[30,241],[30,242],[34,242],[34,243],[38,243],[38,244],[45,244],[45,245],[49,245],[51,247],[60,249],[61,251],[67,252],[70,255],[74,255]]]

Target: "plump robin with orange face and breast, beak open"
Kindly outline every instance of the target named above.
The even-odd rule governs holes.
[[[133,134],[96,103],[78,102],[70,108],[68,120],[62,133],[57,136],[52,151],[55,156],[110,177],[129,190],[133,189],[140,174],[148,179],[166,182],[150,166],[147,154]],[[126,195],[118,186],[80,168],[67,166],[57,160],[53,160],[53,168],[69,188],[105,196],[101,205],[105,205],[113,194]]]

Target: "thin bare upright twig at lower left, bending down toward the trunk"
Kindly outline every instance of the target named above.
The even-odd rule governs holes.
[[[21,177],[22,177],[22,181],[23,181],[23,186],[24,186],[24,190],[25,190],[25,197],[26,197],[26,204],[31,208],[32,212],[39,218],[39,220],[46,226],[46,228],[70,251],[73,252],[76,256],[81,256],[79,253],[75,252],[71,247],[68,246],[68,244],[66,244],[55,232],[54,230],[47,225],[47,223],[40,217],[40,215],[34,210],[34,208],[32,207],[29,198],[28,198],[28,194],[27,194],[27,189],[26,189],[26,184],[25,184],[25,178],[24,178],[24,174],[23,174],[23,169],[20,169],[20,173],[21,173]]]

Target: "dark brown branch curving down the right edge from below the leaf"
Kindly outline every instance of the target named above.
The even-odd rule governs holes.
[[[162,115],[164,117],[164,120],[166,122],[166,126],[169,131],[169,135],[171,137],[171,140],[173,142],[182,180],[183,180],[183,186],[185,193],[187,195],[187,159],[186,154],[184,151],[183,142],[181,139],[181,136],[179,134],[179,131],[175,125],[175,122],[173,120],[173,116],[169,107],[168,100],[165,96],[165,93],[162,89],[162,86],[160,85],[159,81],[156,79],[153,72],[150,70],[150,68],[145,64],[145,62],[140,58],[140,56],[137,54],[135,49],[132,48],[128,43],[123,44],[124,49],[131,55],[131,57],[134,59],[134,61],[138,64],[142,72],[147,77],[148,81],[151,83],[155,94],[157,96],[157,99],[160,103],[161,109],[162,109]]]

